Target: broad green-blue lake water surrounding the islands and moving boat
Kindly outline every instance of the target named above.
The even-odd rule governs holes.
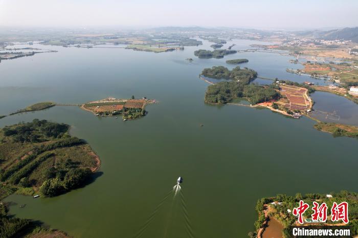
[[[257,42],[235,43],[238,50]],[[0,114],[41,101],[84,103],[132,95],[158,101],[146,108],[147,116],[127,122],[73,106],[0,120],[0,127],[33,118],[69,124],[102,160],[96,181],[84,188],[56,198],[8,197],[10,214],[75,237],[246,237],[261,197],[356,191],[356,139],[317,131],[306,117],[204,103],[208,84],[198,78],[203,68],[247,58],[242,66],[260,76],[307,81],[285,72],[293,67],[292,57],[193,55],[210,44],[160,54],[36,45],[58,52],[2,61]],[[178,176],[184,181],[174,196]]]

